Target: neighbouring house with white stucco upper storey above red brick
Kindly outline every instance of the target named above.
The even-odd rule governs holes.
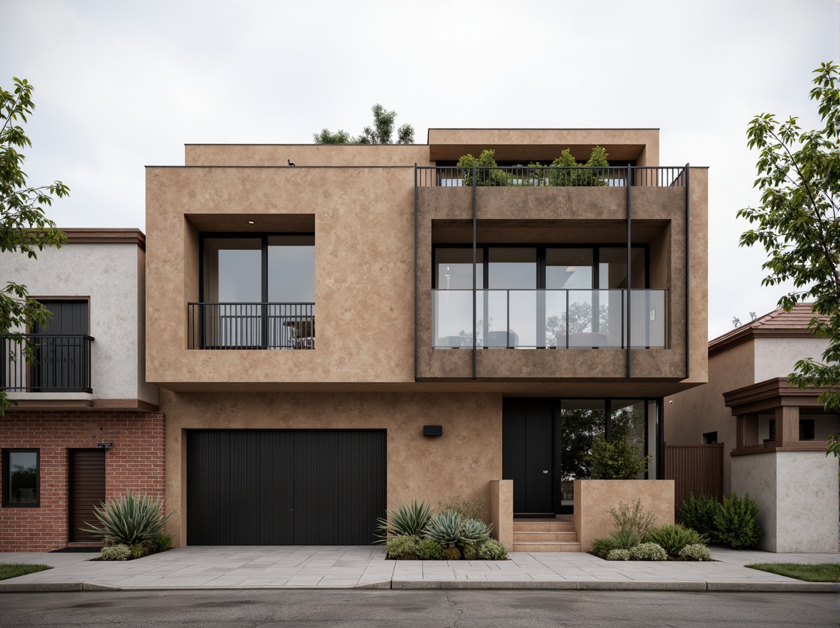
[[[0,338],[0,550],[45,551],[100,538],[92,506],[127,490],[164,495],[164,417],[145,382],[144,234],[64,229],[38,259],[0,254],[0,285],[24,284],[52,311],[36,364]]]

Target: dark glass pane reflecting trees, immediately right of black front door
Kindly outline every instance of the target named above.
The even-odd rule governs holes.
[[[605,400],[560,401],[560,490],[562,505],[572,505],[575,479],[591,476],[592,439],[605,433]]]

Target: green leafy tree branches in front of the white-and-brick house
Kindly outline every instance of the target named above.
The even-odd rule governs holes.
[[[24,154],[32,146],[24,129],[16,122],[27,122],[34,111],[33,86],[14,78],[14,88],[7,92],[0,88],[0,252],[17,251],[36,258],[37,252],[47,246],[60,246],[66,236],[55,228],[55,222],[46,217],[46,207],[52,205],[53,196],[67,196],[70,189],[61,181],[45,186],[30,186],[22,170]],[[27,327],[43,325],[50,318],[50,311],[37,301],[27,299],[25,285],[9,281],[0,288],[0,342],[3,354],[0,359],[13,360],[14,347],[24,348],[27,364],[34,359],[34,344],[24,336]],[[0,386],[3,382],[0,382]],[[0,416],[9,406],[6,390],[0,389]]]

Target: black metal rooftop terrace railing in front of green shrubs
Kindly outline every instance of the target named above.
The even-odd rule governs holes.
[[[683,187],[685,166],[417,167],[417,187]]]

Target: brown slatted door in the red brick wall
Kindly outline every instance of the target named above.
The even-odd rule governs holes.
[[[83,532],[87,524],[99,525],[93,507],[105,501],[105,452],[97,449],[70,450],[70,541],[102,542],[102,536]]]

